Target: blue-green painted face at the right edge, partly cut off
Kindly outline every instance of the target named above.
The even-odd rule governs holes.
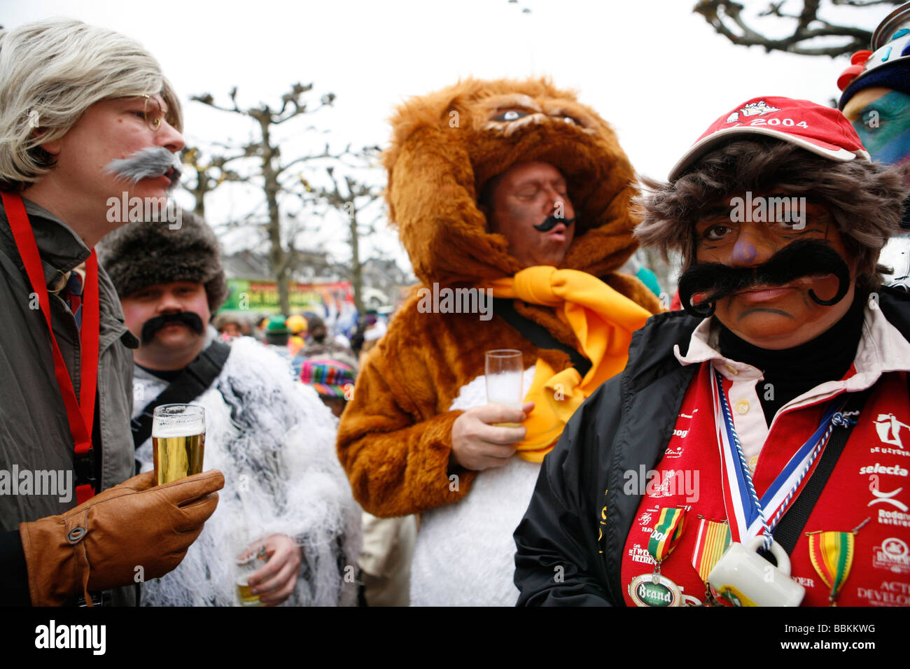
[[[910,96],[884,87],[866,88],[844,106],[873,160],[896,165],[910,160]]]

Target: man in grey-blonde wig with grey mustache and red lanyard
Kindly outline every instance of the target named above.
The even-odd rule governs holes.
[[[0,603],[135,603],[123,586],[177,566],[215,510],[220,472],[129,478],[137,342],[93,250],[126,223],[115,201],[167,202],[181,127],[135,41],[0,31]]]

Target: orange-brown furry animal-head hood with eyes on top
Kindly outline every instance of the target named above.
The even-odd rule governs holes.
[[[505,120],[509,110],[520,117]],[[477,204],[490,177],[520,162],[550,163],[568,184],[577,228],[561,268],[604,278],[637,246],[628,158],[591,107],[547,79],[466,79],[405,102],[391,125],[383,154],[389,218],[424,283],[474,283],[521,269]]]

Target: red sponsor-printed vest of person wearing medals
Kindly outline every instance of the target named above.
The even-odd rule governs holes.
[[[647,479],[622,558],[627,604],[633,603],[627,587],[632,578],[654,571],[647,547],[660,510],[678,505],[689,505],[691,510],[682,538],[661,571],[682,589],[686,602],[704,599],[705,586],[692,563],[698,516],[713,521],[728,517],[714,430],[712,373],[711,363],[703,362],[686,390],[672,439],[656,471],[645,472],[642,466],[631,477],[627,472],[629,492],[637,492],[642,477]],[[853,374],[854,370],[848,372],[848,376]],[[725,391],[729,386],[724,380]],[[759,497],[816,430],[829,401],[777,416],[753,472]],[[804,477],[800,491],[819,459]],[[866,518],[869,522],[854,538],[853,568],[837,598],[838,605],[910,605],[910,397],[904,372],[886,373],[876,381],[796,542],[790,556],[791,576],[805,588],[803,605],[827,605],[830,593],[810,561],[805,532],[849,532]],[[734,534],[733,541],[738,540]]]

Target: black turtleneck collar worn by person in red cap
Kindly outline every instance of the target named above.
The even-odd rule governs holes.
[[[760,349],[721,326],[718,347],[723,356],[745,362],[763,372],[764,380],[755,390],[762,402],[764,419],[768,425],[771,425],[774,414],[794,397],[824,381],[844,377],[853,364],[856,347],[863,333],[866,299],[865,295],[860,295],[857,291],[854,303],[844,318],[814,340],[792,349]],[[766,383],[771,384],[773,393],[764,390]],[[771,399],[767,399],[766,395]]]

